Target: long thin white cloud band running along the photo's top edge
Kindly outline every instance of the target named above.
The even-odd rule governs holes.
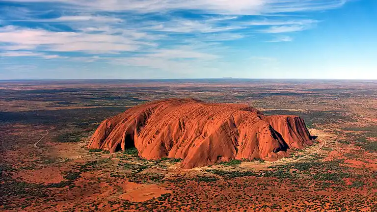
[[[334,9],[348,0],[13,0],[18,2],[58,2],[87,11],[202,10],[212,14],[258,15]]]

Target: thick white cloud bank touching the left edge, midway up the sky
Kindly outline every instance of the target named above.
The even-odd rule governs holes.
[[[12,50],[38,47],[44,51],[85,53],[119,53],[136,51],[142,46],[154,46],[153,43],[137,41],[127,35],[54,32],[14,26],[0,28],[0,42],[8,43],[6,48]]]

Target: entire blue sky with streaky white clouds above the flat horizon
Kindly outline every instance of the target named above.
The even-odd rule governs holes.
[[[377,0],[0,0],[0,79],[377,79]]]

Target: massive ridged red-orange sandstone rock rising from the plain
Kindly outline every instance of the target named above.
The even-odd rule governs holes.
[[[218,160],[276,160],[312,144],[298,116],[265,116],[247,105],[168,99],[135,106],[102,122],[89,149],[136,147],[145,159],[180,158],[183,168]]]

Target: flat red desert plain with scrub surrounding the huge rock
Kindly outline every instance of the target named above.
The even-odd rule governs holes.
[[[296,115],[317,138],[284,159],[193,169],[87,149],[105,119],[167,98]],[[377,211],[377,81],[0,81],[0,128],[1,211]]]

